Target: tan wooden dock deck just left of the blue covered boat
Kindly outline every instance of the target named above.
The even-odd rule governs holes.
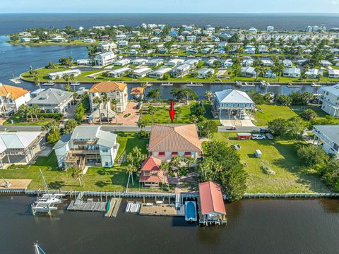
[[[185,216],[185,206],[181,205],[179,210],[175,209],[174,205],[168,204],[154,204],[146,205],[141,204],[140,212],[141,215],[160,215],[160,216]]]

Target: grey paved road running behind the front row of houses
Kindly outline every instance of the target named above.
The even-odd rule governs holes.
[[[0,126],[0,131],[41,131],[42,126]],[[230,127],[219,126],[218,131],[230,131]],[[254,126],[254,127],[237,127],[237,130],[233,132],[251,132],[259,131],[260,128],[265,128],[264,126]],[[138,126],[114,126],[114,125],[102,125],[102,131],[140,131]],[[150,131],[150,126],[146,126],[146,131]]]

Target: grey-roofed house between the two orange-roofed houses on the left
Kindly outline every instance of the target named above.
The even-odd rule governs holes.
[[[65,113],[73,102],[73,92],[49,88],[37,94],[27,102],[28,106],[37,105],[46,113]]]

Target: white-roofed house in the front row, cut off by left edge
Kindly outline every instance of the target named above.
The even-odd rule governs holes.
[[[28,164],[40,152],[39,132],[0,132],[0,168],[6,164]]]

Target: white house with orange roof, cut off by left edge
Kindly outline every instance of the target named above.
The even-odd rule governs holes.
[[[30,101],[30,91],[11,85],[0,83],[0,115],[12,114],[18,111],[22,104]]]

